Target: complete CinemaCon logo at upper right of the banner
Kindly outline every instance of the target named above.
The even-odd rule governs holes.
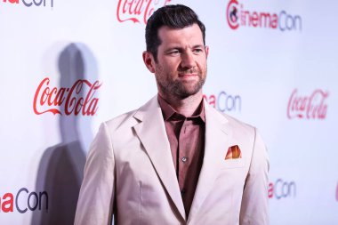
[[[292,15],[284,10],[275,12],[256,12],[246,9],[237,0],[230,0],[227,6],[227,21],[229,27],[271,28],[280,31],[302,30],[302,17]]]

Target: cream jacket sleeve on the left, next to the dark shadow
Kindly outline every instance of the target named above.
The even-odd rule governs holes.
[[[106,124],[93,140],[84,166],[76,206],[76,225],[111,224],[115,194],[115,159]]]

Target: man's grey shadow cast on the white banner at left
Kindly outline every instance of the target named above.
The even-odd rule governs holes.
[[[78,79],[97,79],[96,61],[84,44],[68,44],[60,52],[58,62],[60,87],[71,87]],[[77,97],[85,98],[84,89]],[[65,116],[64,109],[60,109],[61,142],[44,150],[36,177],[36,189],[48,193],[48,203],[44,203],[48,210],[46,205],[42,205],[41,211],[35,211],[32,225],[74,224],[88,147],[86,142],[92,141],[93,133],[91,117],[80,114]]]

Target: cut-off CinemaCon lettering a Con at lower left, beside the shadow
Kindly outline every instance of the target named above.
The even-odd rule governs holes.
[[[13,213],[15,210],[19,213],[26,213],[28,210],[48,211],[48,193],[46,191],[29,192],[28,189],[22,188],[15,194],[15,197],[12,193],[0,196],[0,205],[0,213]]]

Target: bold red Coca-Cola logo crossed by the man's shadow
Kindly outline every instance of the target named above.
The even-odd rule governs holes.
[[[85,85],[88,87],[87,92]],[[33,101],[34,112],[36,115],[51,112],[54,115],[93,116],[99,103],[99,99],[94,95],[100,87],[99,81],[92,84],[84,79],[77,80],[71,87],[52,87],[50,79],[46,77],[37,86]]]

